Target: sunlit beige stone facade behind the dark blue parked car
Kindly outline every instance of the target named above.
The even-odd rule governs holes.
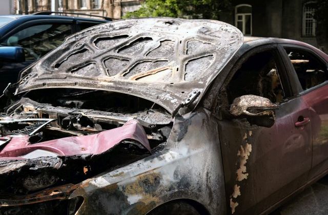
[[[14,0],[16,14],[50,11],[51,0]],[[58,11],[107,16],[120,19],[125,13],[137,10],[145,0],[55,0]],[[83,16],[83,15],[79,15]],[[89,16],[86,16],[89,17]]]

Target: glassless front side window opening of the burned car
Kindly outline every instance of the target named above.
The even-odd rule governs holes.
[[[242,95],[256,95],[279,103],[285,98],[273,51],[256,53],[245,60],[227,86],[229,103]]]

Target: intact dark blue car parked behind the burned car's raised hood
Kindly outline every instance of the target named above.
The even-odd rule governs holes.
[[[110,20],[50,14],[0,16],[1,93],[9,82],[17,82],[19,71],[58,47],[65,37]],[[15,47],[22,47],[24,54]]]

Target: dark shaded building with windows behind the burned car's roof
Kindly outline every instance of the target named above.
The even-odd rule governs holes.
[[[238,27],[244,35],[295,39],[324,49],[316,39],[315,1],[233,0],[232,3],[233,9],[222,13],[220,20]]]

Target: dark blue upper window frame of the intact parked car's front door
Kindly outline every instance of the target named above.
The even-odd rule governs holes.
[[[12,30],[8,31],[0,40],[0,44],[8,39],[13,34],[22,31],[26,28],[36,26],[36,25],[48,25],[48,24],[66,24],[71,25],[71,34],[74,32],[74,20],[73,19],[35,19],[30,20],[22,25],[17,26],[16,28],[13,28]]]

